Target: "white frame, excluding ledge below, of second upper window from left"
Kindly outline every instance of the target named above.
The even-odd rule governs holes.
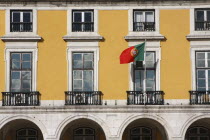
[[[72,23],[73,23],[73,11],[93,11],[93,22],[94,22],[94,31],[93,32],[72,32]],[[76,7],[74,9],[69,9],[67,11],[67,36],[97,36],[98,35],[98,10]]]

